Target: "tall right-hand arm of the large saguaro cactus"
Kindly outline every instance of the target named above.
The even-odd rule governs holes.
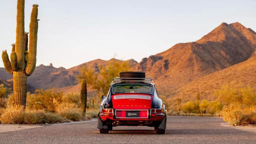
[[[38,4],[33,4],[29,25],[29,53],[26,66],[26,74],[30,76],[36,67],[36,45],[37,45],[37,30],[38,30]]]

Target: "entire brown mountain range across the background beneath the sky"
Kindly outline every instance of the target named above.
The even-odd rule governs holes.
[[[144,71],[146,76],[153,77],[160,95],[168,96],[170,100],[180,97],[186,101],[194,98],[196,92],[204,92],[202,97],[214,99],[214,89],[230,80],[244,84],[254,80],[251,66],[255,67],[255,50],[256,33],[252,29],[238,22],[222,23],[196,42],[176,44],[164,52],[143,58],[139,63],[135,60],[129,62],[133,70]],[[70,69],[40,65],[28,78],[28,83],[36,88],[56,87],[65,93],[79,92],[74,76],[80,68],[91,67],[97,72],[100,66],[109,62],[97,59]],[[10,78],[1,69],[0,76]]]

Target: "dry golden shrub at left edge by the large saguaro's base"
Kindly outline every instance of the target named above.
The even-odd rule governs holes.
[[[23,108],[6,108],[0,117],[2,124],[23,124],[25,112]]]

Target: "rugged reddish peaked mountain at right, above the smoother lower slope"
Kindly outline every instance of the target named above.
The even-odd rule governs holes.
[[[222,23],[196,42],[176,44],[144,58],[136,68],[153,76],[160,94],[174,91],[192,80],[250,58],[256,50],[256,33],[242,24]]]

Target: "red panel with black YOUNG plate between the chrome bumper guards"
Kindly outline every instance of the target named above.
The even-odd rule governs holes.
[[[115,110],[115,118],[148,118],[148,110]]]

